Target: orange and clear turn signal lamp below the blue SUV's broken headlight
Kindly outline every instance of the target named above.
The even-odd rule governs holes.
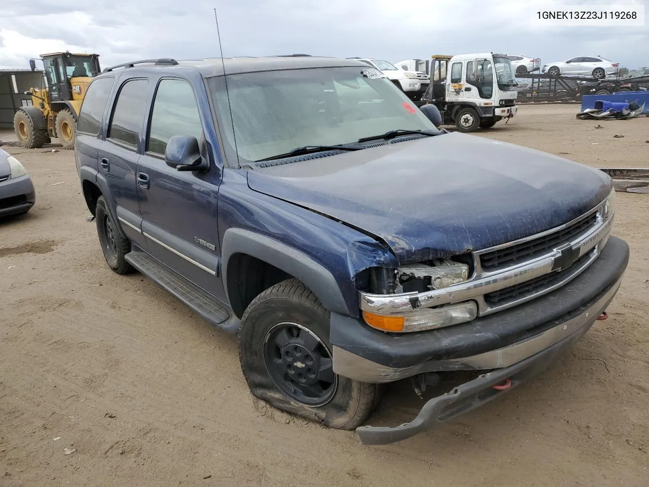
[[[396,316],[393,314],[383,315],[363,311],[365,323],[377,330],[393,333],[408,333],[448,327],[450,325],[471,321],[477,315],[478,305],[476,305],[475,301],[441,306],[439,308],[416,310],[404,316]]]

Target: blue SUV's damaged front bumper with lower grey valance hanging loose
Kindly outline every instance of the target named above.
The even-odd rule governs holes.
[[[339,375],[365,382],[391,382],[428,371],[487,371],[430,399],[410,423],[356,429],[361,442],[393,443],[433,429],[543,371],[604,312],[620,287],[628,258],[628,245],[611,237],[599,258],[563,288],[531,303],[447,329],[394,336],[358,321],[360,327],[354,328],[351,321],[334,317],[330,341],[334,371]],[[506,379],[508,388],[493,388]]]

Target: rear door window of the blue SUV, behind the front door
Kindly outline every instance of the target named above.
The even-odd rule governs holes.
[[[115,103],[108,138],[133,149],[138,147],[138,134],[148,105],[149,80],[132,79],[125,82]]]

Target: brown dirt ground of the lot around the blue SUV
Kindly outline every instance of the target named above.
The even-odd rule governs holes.
[[[649,118],[578,121],[578,108],[522,106],[480,136],[649,165]],[[618,193],[624,283],[555,368],[441,431],[365,447],[253,399],[232,336],[108,269],[73,152],[5,149],[37,201],[0,222],[0,486],[649,486],[649,194]],[[421,405],[395,384],[369,422]]]

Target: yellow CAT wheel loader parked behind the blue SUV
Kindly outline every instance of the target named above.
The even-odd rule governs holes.
[[[88,84],[100,72],[99,55],[50,53],[43,60],[47,88],[30,88],[32,106],[21,106],[14,116],[14,131],[23,147],[37,149],[58,138],[65,149],[74,149],[77,116]],[[30,59],[32,71],[36,60]]]

